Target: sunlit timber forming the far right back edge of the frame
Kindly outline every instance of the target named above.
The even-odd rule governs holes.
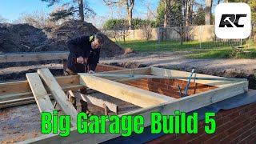
[[[172,77],[190,77],[190,72],[184,72],[184,71],[179,71],[179,70],[167,70],[167,69],[162,69],[162,68],[157,68],[157,67],[151,67],[151,74],[153,75],[158,75],[158,76],[172,76]],[[208,78],[223,78],[223,77],[217,77],[213,75],[207,75],[207,74],[197,74],[194,73],[193,77],[208,77]],[[185,80],[186,79],[182,79]],[[228,86],[232,83],[233,81],[213,81],[213,80],[193,80],[193,82],[209,85],[209,86],[218,86],[218,87],[224,87]]]

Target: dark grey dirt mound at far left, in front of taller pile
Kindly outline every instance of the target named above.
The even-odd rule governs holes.
[[[42,30],[28,24],[1,24],[0,23],[0,52],[30,52],[46,41]]]

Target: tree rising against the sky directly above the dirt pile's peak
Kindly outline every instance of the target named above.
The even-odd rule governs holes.
[[[60,2],[60,0],[42,0],[42,2],[48,2],[48,6],[53,6],[55,3]],[[78,6],[73,6],[73,4],[78,4]],[[71,2],[67,2],[64,5],[70,6],[68,11],[63,11],[60,12],[65,15],[68,14],[67,16],[70,16],[69,13],[76,14],[78,13],[78,16],[81,21],[85,21],[86,18],[94,17],[95,12],[92,10],[88,4],[87,1],[83,0],[72,0]]]

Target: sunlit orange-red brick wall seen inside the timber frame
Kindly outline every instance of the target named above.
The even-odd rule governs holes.
[[[108,66],[108,65],[98,64],[96,71],[102,72],[102,71],[123,70],[123,69],[125,68],[118,67],[118,66]],[[180,98],[177,84],[179,84],[179,86],[181,87],[183,95],[186,90],[186,81],[182,81],[178,79],[141,78],[141,79],[135,79],[135,80],[122,82],[122,83],[129,86],[138,87],[143,90],[149,90],[154,93],[164,94],[172,98]],[[216,88],[218,87],[190,82],[190,87],[188,89],[187,95],[198,94],[207,90],[214,90]]]

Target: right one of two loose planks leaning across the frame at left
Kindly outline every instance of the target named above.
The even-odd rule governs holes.
[[[58,82],[54,78],[53,74],[50,73],[49,69],[39,69],[38,74],[42,78],[43,82],[46,83],[46,86],[50,90],[50,93],[53,95],[55,101],[58,103],[58,106],[66,115],[70,115],[70,122],[72,126],[77,126],[77,110],[74,109],[74,106],[69,102],[66,94],[62,90],[62,87],[58,85]]]

